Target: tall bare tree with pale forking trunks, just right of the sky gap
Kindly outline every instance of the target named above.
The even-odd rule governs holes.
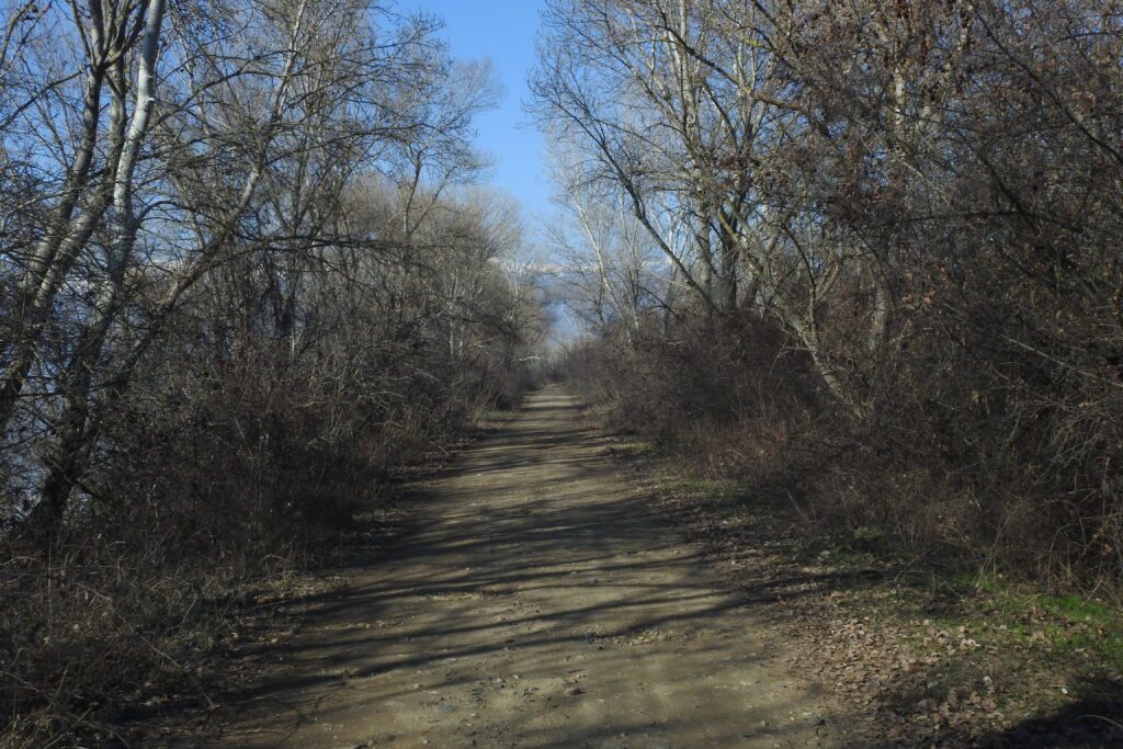
[[[793,149],[816,124],[776,52],[778,20],[721,2],[577,4],[548,13],[540,119],[590,154],[591,174],[629,201],[707,307],[778,317],[837,400],[861,412],[822,314],[843,275],[875,287],[878,276],[793,174]],[[690,238],[682,250],[676,231]],[[884,328],[884,316],[870,323]]]

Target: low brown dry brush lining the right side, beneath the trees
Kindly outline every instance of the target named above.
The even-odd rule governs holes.
[[[1117,579],[1114,400],[1050,394],[1041,378],[1058,373],[1041,373],[1039,357],[997,348],[977,323],[964,347],[948,336],[951,311],[930,314],[914,321],[907,355],[868,382],[862,420],[832,408],[806,357],[754,318],[659,330],[633,348],[592,340],[564,374],[610,424],[687,472],[737,478],[751,501],[794,502],[809,535],[875,535],[937,568],[1059,587]],[[985,346],[1001,353],[973,353]]]

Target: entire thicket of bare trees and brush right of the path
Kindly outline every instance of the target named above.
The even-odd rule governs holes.
[[[570,374],[809,518],[1117,583],[1121,11],[551,2]]]

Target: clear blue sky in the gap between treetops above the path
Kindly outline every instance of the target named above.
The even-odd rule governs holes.
[[[549,209],[550,193],[542,139],[522,112],[541,7],[542,0],[399,0],[403,11],[421,10],[445,20],[441,35],[455,57],[492,61],[503,99],[499,109],[477,119],[476,145],[495,163],[490,182],[522,204],[531,236],[536,219]]]

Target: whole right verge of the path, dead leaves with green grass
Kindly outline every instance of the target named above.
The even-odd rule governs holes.
[[[868,531],[809,536],[731,479],[691,478],[649,444],[610,451],[774,622],[823,685],[847,746],[1114,746],[1123,615],[1095,595],[917,569]]]

